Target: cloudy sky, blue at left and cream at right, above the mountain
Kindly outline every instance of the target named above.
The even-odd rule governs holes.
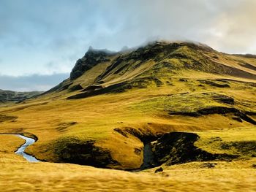
[[[0,89],[47,91],[94,48],[155,39],[256,54],[255,0],[0,0]]]

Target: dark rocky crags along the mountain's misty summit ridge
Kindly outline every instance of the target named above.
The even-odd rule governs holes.
[[[110,69],[118,69],[120,67],[119,64],[122,62],[129,63],[131,60],[148,61],[152,59],[154,61],[161,61],[163,56],[167,56],[168,58],[187,58],[188,55],[185,53],[175,53],[178,48],[185,46],[193,50],[214,51],[211,47],[206,45],[189,42],[152,42],[145,47],[138,47],[134,50],[123,50],[118,53],[110,52],[109,50],[94,50],[90,47],[83,58],[78,59],[76,62],[70,73],[70,80],[77,79],[97,64],[110,61],[110,56],[113,55],[116,55],[117,57],[112,61],[112,65],[108,68],[108,72],[110,72]],[[170,55],[170,53],[174,54]],[[163,56],[161,56],[161,54],[163,54]],[[108,72],[105,72],[105,74]]]

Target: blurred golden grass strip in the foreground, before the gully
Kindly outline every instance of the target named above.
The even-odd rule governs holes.
[[[29,163],[13,152],[23,144],[0,136],[0,191],[256,191],[256,158],[191,162],[143,172],[75,164]]]

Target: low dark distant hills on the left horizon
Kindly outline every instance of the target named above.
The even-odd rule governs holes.
[[[23,101],[25,99],[30,99],[31,97],[38,96],[41,93],[42,91],[15,92],[0,89],[0,103],[7,101]]]

